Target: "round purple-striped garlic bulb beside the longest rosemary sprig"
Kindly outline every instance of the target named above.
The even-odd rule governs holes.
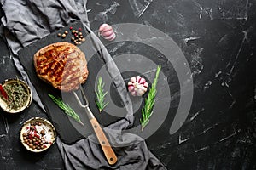
[[[148,82],[143,77],[131,77],[130,81],[128,82],[128,91],[133,96],[142,96],[147,92],[147,89]]]

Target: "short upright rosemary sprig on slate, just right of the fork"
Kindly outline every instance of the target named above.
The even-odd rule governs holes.
[[[96,105],[99,108],[99,111],[102,112],[102,110],[108,105],[108,103],[105,103],[105,96],[108,94],[108,92],[104,92],[104,85],[105,83],[102,82],[102,77],[98,78],[98,84],[97,84],[97,90],[95,90],[96,93]]]

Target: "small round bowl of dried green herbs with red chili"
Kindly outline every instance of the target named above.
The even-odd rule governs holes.
[[[24,111],[32,102],[32,91],[26,82],[7,79],[0,84],[0,106],[8,113]]]

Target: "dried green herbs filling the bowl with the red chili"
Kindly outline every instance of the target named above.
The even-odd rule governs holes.
[[[8,98],[1,97],[6,102],[9,110],[19,110],[26,105],[29,96],[26,92],[26,88],[20,82],[6,83],[3,89]]]

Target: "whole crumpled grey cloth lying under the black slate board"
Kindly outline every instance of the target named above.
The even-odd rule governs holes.
[[[90,31],[86,12],[86,0],[0,0],[4,16],[1,21],[7,28],[5,38],[14,53],[15,65],[26,79],[26,71],[17,56],[20,48],[26,47],[40,38],[46,37],[55,29],[67,26],[68,23],[80,20],[84,27]],[[145,141],[135,134],[123,133],[133,124],[131,99],[125,90],[125,82],[122,79],[117,66],[102,45],[102,42],[92,34],[92,42],[102,59],[106,62],[109,75],[123,100],[127,115],[105,128],[110,144],[118,156],[119,161],[109,166],[100,146],[96,143],[95,135],[87,139],[81,139],[75,144],[64,144],[61,139],[56,143],[61,151],[67,169],[166,169],[160,161],[148,150]],[[30,84],[32,86],[32,84]],[[34,99],[43,107],[36,91],[33,90]],[[44,109],[44,108],[43,108]],[[115,130],[113,130],[115,129]]]

